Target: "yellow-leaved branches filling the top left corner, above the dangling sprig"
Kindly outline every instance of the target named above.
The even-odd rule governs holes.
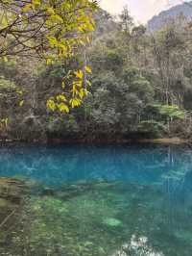
[[[47,62],[65,60],[94,29],[95,8],[88,0],[0,1],[0,56],[36,53]]]

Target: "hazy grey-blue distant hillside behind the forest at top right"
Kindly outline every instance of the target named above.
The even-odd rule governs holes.
[[[158,15],[154,16],[148,22],[148,29],[150,31],[159,30],[163,27],[163,25],[169,18],[175,18],[180,14],[186,17],[187,21],[192,19],[192,1],[190,3],[183,3],[181,5],[172,7],[171,9],[163,11]]]

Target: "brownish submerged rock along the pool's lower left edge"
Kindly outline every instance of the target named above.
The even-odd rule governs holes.
[[[21,216],[26,192],[24,182],[0,178],[0,255],[20,255],[13,240],[16,239],[14,234],[22,230]]]

